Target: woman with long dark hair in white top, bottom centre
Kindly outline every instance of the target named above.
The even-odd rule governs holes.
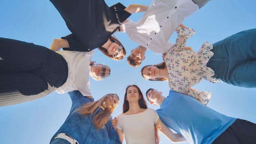
[[[115,121],[115,120],[113,120]],[[159,144],[158,130],[172,142],[184,141],[162,123],[154,109],[148,108],[140,88],[130,85],[126,88],[123,101],[123,113],[117,116],[116,131],[121,142],[126,144]]]

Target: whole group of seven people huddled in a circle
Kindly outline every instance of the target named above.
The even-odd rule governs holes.
[[[195,30],[182,24],[186,17],[209,0],[152,0],[150,6],[104,0],[50,0],[71,34],[54,39],[50,49],[15,39],[0,38],[0,106],[42,98],[49,93],[68,93],[70,114],[50,140],[51,144],[158,144],[158,130],[172,142],[191,144],[252,144],[256,124],[220,114],[207,107],[211,92],[192,88],[202,79],[212,83],[256,88],[254,74],[256,29],[244,30],[219,42],[204,42],[198,52],[186,46]],[[161,10],[159,10],[161,9]],[[132,13],[142,18],[128,20]],[[128,65],[139,67],[150,49],[163,55],[163,62],[141,69],[144,79],[168,81],[165,98],[150,88],[145,98],[137,85],[126,88],[123,113],[111,119],[119,104],[115,93],[93,99],[89,75],[105,79],[108,65],[91,61],[96,49],[113,60],[126,56],[125,46],[113,36],[122,31],[139,46],[130,51]],[[172,33],[175,43],[168,42]],[[61,48],[63,51],[60,51]],[[173,132],[172,130],[175,132]]]

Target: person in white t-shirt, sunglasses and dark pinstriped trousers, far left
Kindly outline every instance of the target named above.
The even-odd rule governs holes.
[[[110,75],[107,65],[94,65],[94,53],[52,51],[44,46],[0,38],[0,106],[42,98],[49,93],[79,90],[91,95],[89,75]]]

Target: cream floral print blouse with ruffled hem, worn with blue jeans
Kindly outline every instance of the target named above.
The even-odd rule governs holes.
[[[184,93],[207,105],[212,93],[191,88],[202,79],[216,82],[214,71],[207,67],[213,56],[212,44],[205,42],[198,53],[184,49],[186,39],[195,34],[195,30],[178,27],[178,37],[172,48],[165,54],[165,64],[169,73],[169,86],[173,91]]]

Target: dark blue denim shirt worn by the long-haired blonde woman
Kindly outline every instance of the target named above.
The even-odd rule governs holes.
[[[121,144],[119,136],[112,126],[112,121],[109,119],[105,128],[96,129],[93,125],[93,117],[98,114],[101,109],[91,116],[85,116],[75,111],[82,105],[93,102],[83,96],[79,91],[68,92],[72,100],[72,107],[67,119],[61,125],[61,128],[51,138],[51,142],[59,133],[66,133],[68,136],[74,138],[79,144]],[[50,143],[51,143],[50,142]]]

